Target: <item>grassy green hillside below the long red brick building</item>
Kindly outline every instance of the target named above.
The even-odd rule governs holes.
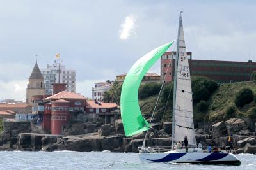
[[[248,111],[250,108],[255,107],[256,103],[252,102],[250,104],[246,104],[243,108],[237,108],[234,99],[236,96],[236,92],[238,92],[243,87],[249,87],[252,89],[253,93],[256,92],[256,83],[252,82],[240,82],[240,83],[225,83],[221,84],[220,87],[211,95],[207,103],[209,104],[209,108],[207,111],[200,112],[196,110],[196,106],[194,106],[194,119],[195,121],[202,122],[218,122],[223,120],[225,115],[225,111],[229,106],[235,106],[235,117],[244,117],[244,113]],[[154,106],[156,104],[157,95],[150,96],[146,99],[140,99],[140,108],[141,112],[146,115],[151,115],[154,110]],[[171,107],[172,108],[172,107]],[[164,110],[164,104],[160,104],[157,109],[157,115],[161,117],[161,113]],[[168,113],[170,114],[170,108],[168,109]],[[170,117],[169,121],[170,121]]]

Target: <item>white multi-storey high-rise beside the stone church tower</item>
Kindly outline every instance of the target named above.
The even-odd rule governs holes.
[[[52,95],[52,83],[66,83],[68,92],[76,92],[76,70],[66,69],[57,61],[54,64],[47,64],[46,69],[41,69],[44,76],[45,94]]]

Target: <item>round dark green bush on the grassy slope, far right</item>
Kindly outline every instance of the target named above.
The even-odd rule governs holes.
[[[235,97],[235,104],[238,107],[243,107],[244,104],[248,104],[253,101],[253,92],[250,88],[244,87],[239,90]]]

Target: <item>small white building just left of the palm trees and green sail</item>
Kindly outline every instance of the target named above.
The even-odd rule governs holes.
[[[103,93],[111,89],[111,81],[95,83],[92,88],[93,101],[101,101]]]

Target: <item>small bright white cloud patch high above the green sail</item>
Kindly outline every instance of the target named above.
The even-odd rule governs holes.
[[[119,38],[126,40],[136,36],[136,20],[135,15],[128,15],[125,17],[124,22],[120,25]]]

